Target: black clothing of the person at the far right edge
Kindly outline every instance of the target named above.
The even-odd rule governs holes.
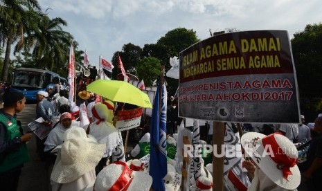
[[[316,157],[322,158],[322,134],[316,136],[310,143],[310,147],[307,150],[307,161],[305,161],[305,164],[301,167],[302,172],[305,172],[310,167]],[[308,190],[322,190],[321,180],[322,167],[312,174],[312,179],[307,181]]]

